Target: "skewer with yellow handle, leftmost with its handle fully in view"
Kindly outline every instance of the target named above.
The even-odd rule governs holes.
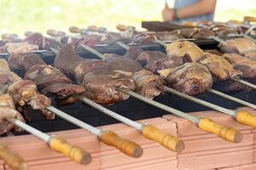
[[[38,139],[44,140],[44,142],[49,145],[50,149],[69,157],[71,160],[77,163],[88,164],[91,161],[90,154],[87,151],[73,144],[68,144],[67,141],[61,137],[49,136],[48,134],[43,133],[38,129],[12,117],[7,117],[6,120],[13,123],[17,127],[24,129],[26,132],[38,137]]]

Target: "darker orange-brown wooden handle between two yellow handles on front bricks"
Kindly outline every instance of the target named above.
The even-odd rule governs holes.
[[[116,147],[128,156],[140,157],[143,155],[143,149],[140,145],[128,139],[122,139],[112,131],[103,131],[100,139],[103,143]]]

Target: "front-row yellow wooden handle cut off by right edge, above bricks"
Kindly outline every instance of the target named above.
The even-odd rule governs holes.
[[[237,111],[235,119],[241,124],[256,128],[256,116],[247,111]]]

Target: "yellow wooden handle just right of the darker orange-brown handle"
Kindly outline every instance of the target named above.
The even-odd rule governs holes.
[[[160,129],[153,125],[144,125],[142,132],[144,137],[158,142],[169,150],[180,152],[185,148],[185,144],[181,139],[169,133],[162,133]]]

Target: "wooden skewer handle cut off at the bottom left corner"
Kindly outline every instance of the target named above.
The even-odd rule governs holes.
[[[24,161],[18,154],[9,150],[5,144],[0,144],[0,159],[2,159],[13,170],[28,169],[26,161]]]

